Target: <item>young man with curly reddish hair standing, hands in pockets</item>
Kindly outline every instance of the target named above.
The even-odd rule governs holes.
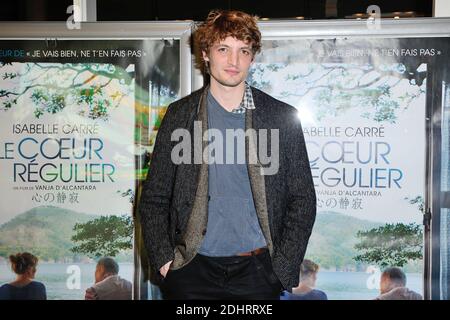
[[[169,299],[278,299],[316,214],[298,113],[245,82],[255,17],[212,11],[195,43],[210,84],[168,107],[141,193],[150,265]]]

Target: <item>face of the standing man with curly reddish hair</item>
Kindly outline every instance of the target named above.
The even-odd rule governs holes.
[[[215,43],[209,53],[203,52],[209,62],[211,82],[224,87],[236,87],[247,79],[253,61],[251,45],[233,37]]]

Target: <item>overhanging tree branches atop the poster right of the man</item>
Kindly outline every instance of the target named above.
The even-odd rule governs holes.
[[[425,94],[427,72],[419,66],[409,60],[386,65],[344,61],[297,67],[292,61],[255,63],[248,81],[283,101],[291,99],[299,107],[311,103],[311,99],[318,120],[362,107],[363,118],[395,123],[400,112]],[[280,92],[274,92],[274,81],[282,81]]]

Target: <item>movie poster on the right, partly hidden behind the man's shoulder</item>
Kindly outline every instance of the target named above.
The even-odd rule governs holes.
[[[445,40],[263,42],[249,81],[298,109],[318,212],[306,258],[330,299],[378,295],[380,267],[355,259],[360,232],[407,230],[422,252],[427,81]],[[422,292],[421,256],[404,267]]]

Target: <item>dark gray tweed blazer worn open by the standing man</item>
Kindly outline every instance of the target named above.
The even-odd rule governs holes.
[[[159,128],[147,179],[139,200],[139,216],[151,269],[174,260],[171,268],[188,264],[200,248],[208,218],[208,165],[195,164],[194,130],[207,128],[208,88],[169,105]],[[246,111],[246,129],[279,130],[279,170],[261,174],[261,163],[248,164],[248,174],[261,230],[275,274],[285,289],[298,285],[300,264],[316,216],[316,194],[297,111],[252,88],[256,108]],[[198,121],[201,121],[201,125]],[[191,133],[191,163],[174,164],[171,141],[177,128]],[[246,139],[246,155],[255,157],[258,145]],[[270,141],[269,141],[270,150]],[[197,161],[198,163],[198,161]],[[158,272],[159,275],[159,272]]]

